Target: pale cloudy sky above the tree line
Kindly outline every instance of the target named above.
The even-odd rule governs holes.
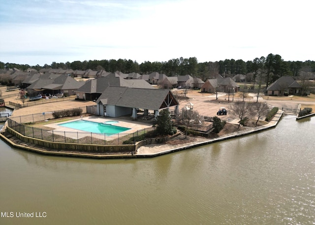
[[[0,62],[315,60],[314,0],[0,0]]]

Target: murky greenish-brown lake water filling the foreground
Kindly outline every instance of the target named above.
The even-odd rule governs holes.
[[[312,224],[314,125],[284,117],[275,129],[152,159],[43,156],[0,141],[0,210],[45,210],[45,224]]]

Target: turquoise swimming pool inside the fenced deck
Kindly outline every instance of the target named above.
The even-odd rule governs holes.
[[[118,121],[116,123],[118,123]],[[66,128],[79,129],[79,130],[92,132],[92,133],[105,133],[106,136],[110,136],[110,135],[120,133],[120,132],[130,129],[130,128],[114,126],[112,124],[113,123],[106,124],[106,122],[95,123],[95,122],[86,121],[86,120],[77,120],[77,121],[68,122],[68,123],[59,124],[59,125]]]

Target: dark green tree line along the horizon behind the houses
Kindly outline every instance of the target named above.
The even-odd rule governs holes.
[[[189,74],[202,80],[222,76],[232,76],[236,74],[257,74],[258,70],[264,70],[267,77],[267,83],[272,83],[283,75],[298,76],[301,71],[315,72],[315,61],[284,61],[280,55],[269,54],[267,57],[255,58],[252,61],[226,59],[216,62],[198,63],[196,57],[171,59],[165,62],[145,61],[138,64],[136,61],[119,60],[90,60],[74,61],[72,63],[44,64],[44,66],[28,64],[14,64],[0,62],[0,69],[18,68],[25,71],[28,68],[40,70],[42,68],[54,69],[73,69],[73,70],[101,70],[108,72],[121,71],[123,73],[137,72],[139,74],[149,74],[151,72],[164,73],[167,76],[179,76]],[[252,79],[252,78],[251,78]]]

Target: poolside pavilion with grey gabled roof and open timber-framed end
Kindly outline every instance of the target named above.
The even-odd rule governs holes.
[[[142,89],[128,87],[108,87],[96,100],[97,115],[120,117],[131,115],[137,119],[137,110],[143,109],[144,115],[154,110],[155,117],[164,108],[175,107],[178,112],[179,102],[167,89]]]

